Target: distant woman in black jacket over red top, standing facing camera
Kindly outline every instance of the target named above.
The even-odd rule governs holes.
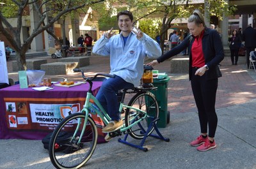
[[[230,58],[232,65],[237,65],[238,61],[238,52],[239,48],[241,47],[241,37],[237,33],[237,30],[233,30],[232,35],[230,35],[230,38],[228,38],[228,41],[230,42],[229,48],[230,48]],[[235,57],[235,61],[234,61]]]

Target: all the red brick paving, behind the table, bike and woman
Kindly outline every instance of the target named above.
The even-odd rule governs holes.
[[[58,61],[50,56],[44,57],[48,62]],[[145,61],[149,62],[149,61]],[[17,72],[12,71],[12,61],[8,61],[9,77],[17,81]],[[82,68],[85,75],[109,72],[109,57],[91,56],[90,66]],[[166,72],[170,77],[168,83],[168,110],[173,113],[196,112],[195,101],[188,80],[188,74],[170,73],[170,61],[165,61],[154,68],[159,72]],[[216,108],[225,108],[232,105],[246,103],[256,98],[256,79],[250,75],[256,74],[253,70],[248,72],[245,66],[245,57],[239,57],[237,66],[230,64],[230,57],[225,57],[220,66],[223,77],[219,78],[216,97]],[[253,74],[254,73],[254,74]],[[50,77],[45,75],[45,77]],[[79,73],[71,75],[54,75],[51,77],[65,77],[68,80],[81,80]]]

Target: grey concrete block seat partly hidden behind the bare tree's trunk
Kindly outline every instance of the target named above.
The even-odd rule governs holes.
[[[47,59],[26,59],[29,70],[40,70],[40,65],[47,63]],[[18,71],[17,61],[12,62],[12,71]]]

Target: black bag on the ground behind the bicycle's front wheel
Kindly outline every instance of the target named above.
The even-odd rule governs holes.
[[[70,139],[72,139],[72,136],[73,135],[71,133],[68,133],[66,131],[61,131],[58,135],[58,138],[56,139],[56,143],[58,144],[56,145],[57,151],[63,151],[64,149],[66,149],[68,146],[65,145],[65,143],[69,142]],[[44,144],[44,149],[49,150],[49,142],[51,140],[51,137],[52,137],[52,133],[49,133],[42,139],[42,143]]]

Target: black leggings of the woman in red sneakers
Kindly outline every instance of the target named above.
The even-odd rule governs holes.
[[[201,133],[207,133],[207,125],[209,125],[209,137],[214,137],[218,123],[215,112],[218,78],[206,80],[205,75],[202,77],[195,75],[196,68],[192,70],[191,87],[198,109]]]

